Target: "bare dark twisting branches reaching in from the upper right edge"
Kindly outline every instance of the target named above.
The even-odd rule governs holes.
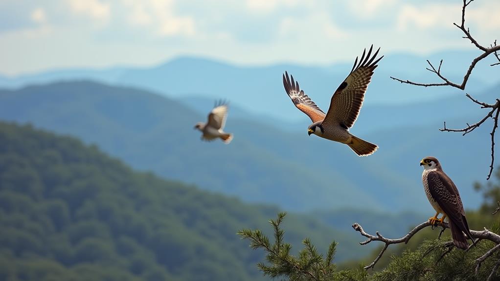
[[[474,69],[474,67],[477,64],[477,62],[479,62],[480,60],[482,60],[485,57],[489,56],[490,54],[493,54],[493,56],[498,60],[498,62],[492,63],[492,64],[490,64],[490,66],[500,65],[500,55],[498,54],[498,51],[500,51],[500,45],[496,44],[496,40],[494,40],[493,44],[490,44],[489,47],[485,47],[485,46],[479,44],[477,42],[477,40],[475,40],[474,37],[472,37],[472,35],[470,34],[469,28],[465,27],[465,8],[473,0],[468,0],[468,1],[467,0],[462,0],[462,1],[463,1],[463,5],[462,5],[461,23],[460,23],[460,25],[458,25],[458,24],[456,24],[456,23],[453,22],[453,25],[455,25],[456,27],[458,27],[463,32],[463,34],[465,34],[465,36],[462,36],[463,38],[468,39],[470,41],[470,43],[472,43],[476,48],[478,48],[479,50],[481,50],[482,53],[479,56],[477,56],[476,58],[474,58],[472,60],[472,62],[470,63],[470,66],[467,69],[467,72],[463,76],[463,80],[461,81],[461,83],[460,84],[454,83],[454,82],[450,81],[449,79],[447,79],[441,73],[442,59],[439,62],[439,66],[437,67],[437,69],[434,67],[434,65],[429,60],[427,60],[427,63],[429,64],[430,68],[426,68],[428,71],[436,74],[436,76],[439,77],[439,79],[441,79],[443,81],[441,83],[419,83],[419,82],[413,82],[413,81],[410,81],[410,80],[403,80],[403,79],[399,79],[399,78],[395,78],[395,77],[390,76],[391,79],[393,79],[395,81],[398,81],[400,83],[405,83],[405,84],[410,84],[410,85],[415,85],[415,86],[423,86],[423,87],[430,87],[430,86],[451,86],[451,87],[458,88],[460,90],[464,90],[465,89],[465,85],[467,84],[468,78],[469,78],[470,74],[472,73],[472,70]],[[439,130],[440,131],[445,131],[445,132],[463,132],[462,135],[465,135],[465,134],[473,131],[475,128],[479,127],[479,125],[481,125],[482,123],[484,123],[484,121],[486,121],[487,119],[492,118],[493,119],[493,128],[492,128],[491,133],[490,133],[490,135],[491,135],[491,162],[490,162],[490,165],[489,165],[488,175],[486,176],[486,180],[489,180],[489,178],[491,177],[491,173],[493,171],[493,164],[494,164],[494,146],[495,146],[494,135],[495,135],[495,130],[498,127],[498,115],[500,113],[500,101],[498,99],[496,99],[496,102],[494,104],[487,104],[487,103],[479,102],[479,101],[473,99],[472,97],[470,97],[469,94],[466,94],[466,96],[469,99],[471,99],[473,102],[481,105],[481,108],[491,108],[491,110],[480,121],[478,121],[478,122],[476,122],[476,123],[474,123],[472,125],[467,124],[467,127],[465,127],[465,128],[462,128],[462,129],[447,129],[446,128],[446,123],[444,123],[444,128],[439,129]]]

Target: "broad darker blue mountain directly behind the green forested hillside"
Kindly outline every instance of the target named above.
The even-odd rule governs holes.
[[[464,120],[476,116],[469,112],[463,112]],[[479,204],[471,184],[485,176],[489,163],[485,131],[461,137],[439,132],[440,123],[387,128],[358,134],[380,149],[357,157],[345,145],[307,136],[308,123],[286,132],[279,124],[243,117],[228,119],[226,130],[235,138],[224,145],[201,142],[193,130],[206,114],[142,90],[67,82],[0,92],[0,119],[78,136],[135,168],[246,202],[296,211],[352,206],[428,211],[418,163],[433,154],[459,186],[465,206]]]

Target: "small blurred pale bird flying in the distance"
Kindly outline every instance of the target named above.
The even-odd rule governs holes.
[[[220,138],[224,143],[229,143],[232,140],[232,134],[223,131],[225,119],[227,118],[227,104],[224,102],[215,102],[215,106],[208,114],[208,122],[196,123],[195,129],[200,130],[202,140],[212,141]]]

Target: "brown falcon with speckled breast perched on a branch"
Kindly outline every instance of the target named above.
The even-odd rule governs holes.
[[[442,171],[439,161],[435,157],[428,156],[420,161],[420,166],[423,166],[422,183],[425,195],[436,211],[434,217],[429,218],[429,221],[432,224],[442,223],[447,217],[453,245],[456,248],[467,249],[468,243],[464,233],[475,245],[465,219],[458,190],[451,179]],[[442,214],[442,217],[437,219],[439,214]]]

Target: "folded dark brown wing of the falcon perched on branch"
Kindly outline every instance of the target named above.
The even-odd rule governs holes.
[[[448,219],[457,225],[460,231],[472,238],[460,195],[451,179],[441,171],[431,171],[427,174],[427,183],[430,195]]]

